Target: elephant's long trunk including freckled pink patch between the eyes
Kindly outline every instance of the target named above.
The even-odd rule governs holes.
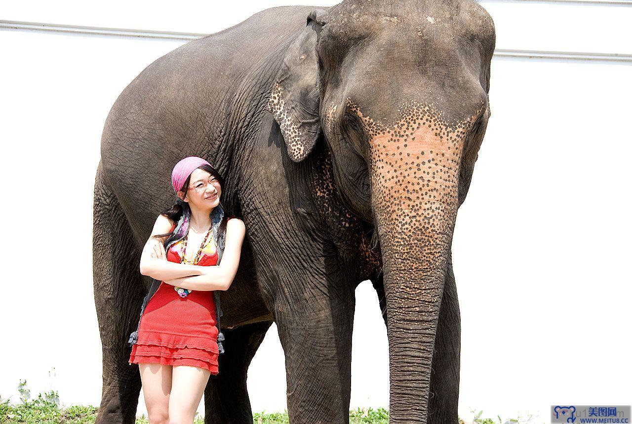
[[[482,112],[449,126],[410,102],[385,126],[348,99],[369,138],[372,207],[384,264],[391,423],[426,422],[430,365],[458,209],[466,136]],[[446,376],[447,378],[447,376]]]

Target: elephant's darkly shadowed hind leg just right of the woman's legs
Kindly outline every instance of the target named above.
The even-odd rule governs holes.
[[[252,424],[248,366],[271,325],[272,321],[265,321],[222,328],[225,351],[219,355],[219,374],[210,376],[204,391],[206,424]]]

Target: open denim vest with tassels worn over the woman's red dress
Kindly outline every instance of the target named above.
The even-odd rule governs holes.
[[[169,250],[169,247],[171,247],[176,242],[178,242],[179,240],[183,239],[183,237],[185,237],[185,234],[189,227],[189,221],[191,218],[191,209],[189,208],[188,204],[186,204],[185,202],[181,202],[180,204],[183,206],[183,213],[182,213],[181,218],[178,220],[178,223],[176,224],[176,228],[174,228],[173,230],[173,235],[171,235],[170,237],[167,237],[167,240],[164,241],[165,252]],[[221,232],[221,234],[218,234],[219,225],[222,222],[222,219],[224,218],[224,208],[222,208],[221,203],[217,204],[217,206],[213,209],[212,213],[210,214],[210,218],[211,218],[211,226],[212,226],[212,237],[217,249],[217,264],[216,265],[219,265],[219,261],[221,261],[222,259],[222,252],[224,251],[224,247],[226,244],[225,229],[224,231]],[[130,346],[133,346],[138,342],[138,329],[140,328],[140,320],[143,317],[143,312],[145,312],[145,307],[147,307],[147,303],[149,303],[149,300],[154,296],[155,292],[158,290],[159,286],[161,285],[161,282],[162,281],[156,280],[154,278],[154,280],[152,281],[152,285],[149,288],[149,293],[147,293],[147,295],[143,299],[143,304],[140,307],[140,317],[138,318],[138,326],[136,327],[136,331],[130,334],[130,339],[128,340],[128,343],[130,344]],[[221,331],[219,330],[219,318],[222,316],[222,309],[219,307],[219,290],[214,290],[213,300],[215,302],[215,308],[216,308],[217,347],[219,348],[219,353],[224,353],[224,346],[222,346],[222,343],[221,343],[222,341],[224,341],[224,334],[222,334]]]

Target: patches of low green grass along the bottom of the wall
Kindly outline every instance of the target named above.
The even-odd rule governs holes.
[[[94,423],[97,417],[96,406],[70,406],[59,407],[59,394],[56,391],[40,393],[37,399],[30,399],[30,391],[26,380],[20,380],[18,391],[21,404],[13,405],[8,399],[0,397],[0,424],[25,423],[25,424],[88,424]],[[464,421],[459,418],[459,424],[523,424],[532,423],[532,417],[513,418],[502,420],[500,416],[494,418],[481,418],[483,411],[471,411],[473,417]],[[357,408],[349,411],[350,424],[388,424],[389,412],[384,408]],[[136,424],[149,424],[145,415],[137,418]],[[195,424],[204,424],[204,419],[196,416]],[[283,413],[254,413],[253,424],[289,424],[288,411]]]

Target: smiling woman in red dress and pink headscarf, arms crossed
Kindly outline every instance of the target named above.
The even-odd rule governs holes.
[[[176,204],[158,216],[140,257],[140,272],[157,288],[130,337],[150,424],[193,423],[210,374],[219,373],[214,290],[230,287],[245,234],[243,221],[224,217],[224,181],[209,162],[184,158],[171,182]]]

